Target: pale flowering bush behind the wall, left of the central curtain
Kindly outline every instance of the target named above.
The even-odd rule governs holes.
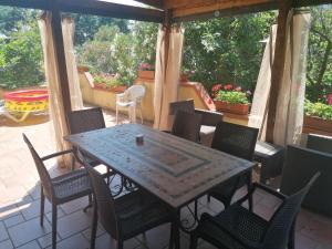
[[[80,49],[80,63],[94,73],[118,74],[121,83],[131,85],[141,62],[154,63],[157,25],[134,22],[131,29],[131,33],[124,33],[116,25],[101,27]]]

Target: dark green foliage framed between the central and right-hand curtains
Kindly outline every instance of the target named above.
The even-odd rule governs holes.
[[[207,90],[232,82],[246,90],[256,86],[262,51],[274,12],[243,14],[186,23],[184,70]]]

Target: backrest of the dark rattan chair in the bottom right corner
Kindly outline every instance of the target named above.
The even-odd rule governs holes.
[[[289,234],[292,226],[294,226],[293,222],[295,221],[297,215],[300,212],[302,201],[320,175],[320,172],[315,173],[302,189],[288,196],[283,200],[282,205],[278,208],[269,221],[270,226],[264,235],[262,248],[287,248]]]

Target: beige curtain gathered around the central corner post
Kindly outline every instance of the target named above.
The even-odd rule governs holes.
[[[156,49],[156,73],[154,90],[155,122],[154,128],[169,129],[169,103],[177,101],[179,74],[183,59],[184,29],[170,28],[169,43],[166,30],[160,28]],[[168,48],[166,48],[168,44]],[[167,51],[167,56],[165,54]],[[166,63],[167,58],[167,63]]]

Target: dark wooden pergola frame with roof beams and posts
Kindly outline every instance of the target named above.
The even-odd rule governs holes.
[[[1,6],[52,12],[52,29],[65,113],[71,111],[71,101],[61,30],[61,12],[158,22],[167,29],[174,22],[279,10],[267,126],[267,141],[272,142],[277,101],[284,68],[288,13],[291,8],[325,4],[331,3],[331,0],[136,0],[136,2],[146,4],[146,8],[113,3],[107,0],[0,0]]]

